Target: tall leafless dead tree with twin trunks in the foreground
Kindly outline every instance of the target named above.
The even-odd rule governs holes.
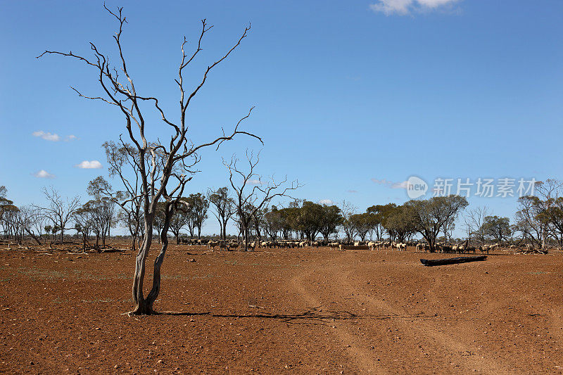
[[[262,141],[260,137],[249,132],[243,132],[239,129],[241,122],[251,115],[252,108],[248,111],[247,115],[242,117],[236,125],[234,125],[232,132],[225,133],[223,131],[221,136],[201,144],[194,144],[189,139],[189,127],[186,122],[187,110],[188,108],[191,108],[190,104],[192,103],[192,100],[205,84],[210,71],[218,64],[222,63],[222,61],[224,61],[236,49],[236,47],[241,44],[242,40],[246,37],[248,30],[250,30],[250,26],[244,29],[237,42],[231,47],[231,49],[229,49],[229,51],[224,53],[224,55],[217,59],[217,61],[208,65],[208,68],[203,72],[203,77],[201,77],[201,80],[199,80],[196,87],[189,91],[186,91],[186,87],[184,86],[185,70],[190,63],[194,61],[194,58],[198,56],[198,53],[202,51],[201,42],[203,37],[213,26],[208,25],[205,19],[201,20],[201,33],[199,34],[197,45],[193,53],[186,53],[185,47],[188,42],[186,37],[184,37],[184,42],[182,42],[181,46],[182,55],[180,57],[179,68],[177,70],[177,78],[175,79],[179,91],[179,116],[177,120],[172,120],[172,117],[165,114],[163,108],[160,106],[158,98],[141,94],[137,91],[133,77],[129,74],[129,70],[127,69],[127,59],[125,58],[125,51],[122,48],[121,41],[123,26],[127,23],[125,16],[122,15],[122,8],[118,8],[117,11],[110,11],[105,5],[104,8],[106,8],[106,11],[108,11],[108,13],[118,21],[118,31],[113,36],[113,39],[119,51],[117,57],[119,68],[115,68],[113,65],[110,65],[109,55],[103,53],[94,43],[90,43],[90,48],[93,53],[92,57],[80,56],[72,53],[72,51],[68,53],[45,51],[41,56],[44,56],[45,54],[66,56],[80,61],[92,68],[96,75],[96,80],[99,82],[101,89],[103,89],[103,96],[86,96],[77,89],[72,89],[74,89],[82,98],[103,101],[108,103],[110,106],[114,106],[125,119],[125,129],[127,129],[129,139],[136,150],[136,155],[138,155],[134,160],[136,160],[135,168],[137,168],[140,178],[139,196],[141,198],[140,203],[142,206],[141,210],[143,212],[144,226],[143,239],[141,246],[139,246],[137,258],[135,260],[135,272],[132,286],[134,309],[131,313],[152,314],[153,303],[158,297],[158,293],[160,291],[160,266],[162,265],[167,248],[167,230],[170,223],[170,217],[172,217],[171,215],[174,210],[174,205],[179,203],[179,197],[184,190],[184,186],[191,179],[191,174],[193,173],[191,168],[194,167],[194,165],[196,165],[196,163],[200,160],[198,151],[201,151],[201,149],[209,146],[215,146],[215,149],[217,149],[224,141],[233,139],[237,134],[246,134],[247,136],[258,139],[260,142]],[[151,142],[146,139],[145,134],[147,134],[147,122],[145,119],[148,116],[146,113],[147,104],[154,106],[153,109],[156,113],[158,113],[160,119],[170,130],[170,134],[166,136],[167,138],[160,137],[160,139],[167,139],[166,142]],[[125,143],[123,143],[123,141],[122,144],[125,147]],[[143,292],[145,262],[148,257],[149,250],[151,249],[153,219],[157,203],[160,201],[164,201],[166,203],[166,220],[163,229],[160,231],[162,246],[160,253],[154,262],[153,286],[145,298]]]

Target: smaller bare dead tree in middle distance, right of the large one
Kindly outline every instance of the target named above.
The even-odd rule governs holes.
[[[227,170],[229,170],[229,182],[235,192],[234,206],[236,215],[238,216],[237,222],[239,223],[241,234],[243,236],[244,250],[248,251],[248,243],[250,241],[251,225],[258,210],[267,207],[272,199],[276,197],[291,198],[287,193],[291,190],[296,190],[301,185],[297,181],[291,182],[291,186],[283,187],[287,182],[284,178],[281,182],[275,182],[274,178],[269,182],[262,182],[259,174],[255,173],[255,167],[260,161],[260,153],[254,158],[252,153],[246,152],[246,159],[248,160],[248,170],[243,172],[237,167],[236,163],[239,161],[234,156],[229,164],[223,161]],[[241,179],[240,185],[236,180]],[[252,187],[251,187],[252,186]]]

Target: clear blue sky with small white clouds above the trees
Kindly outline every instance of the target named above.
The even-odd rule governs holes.
[[[101,94],[95,72],[68,58],[35,58],[45,49],[88,54],[90,41],[114,53],[116,25],[102,4],[0,1],[0,185],[17,204],[42,203],[49,185],[86,201],[87,182],[107,174],[101,144],[124,132],[122,117],[69,88]],[[392,186],[413,174],[427,182],[563,176],[562,1],[106,4],[124,6],[137,89],[172,117],[183,36],[196,42],[201,18],[215,25],[187,75],[195,83],[251,23],[194,102],[191,136],[215,137],[256,106],[244,127],[265,141],[260,172],[298,179],[297,198],[346,199],[365,210],[406,201],[405,189]],[[164,137],[168,129],[149,119],[151,135]],[[260,144],[241,137],[204,152],[189,192],[225,186],[221,158],[246,148]],[[84,161],[101,169],[77,167]],[[516,198],[470,202],[511,218],[517,208]],[[205,231],[217,231],[213,220]]]

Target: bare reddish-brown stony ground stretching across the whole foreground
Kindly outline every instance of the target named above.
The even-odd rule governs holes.
[[[132,253],[44,254],[0,253],[2,372],[563,373],[561,253],[172,246],[141,318]]]

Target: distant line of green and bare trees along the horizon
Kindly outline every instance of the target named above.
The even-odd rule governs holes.
[[[227,226],[233,222],[234,235],[243,243],[262,239],[407,242],[420,237],[432,250],[438,241],[453,243],[464,239],[476,244],[531,243],[545,248],[557,243],[563,247],[562,186],[563,182],[555,179],[538,182],[538,196],[519,198],[514,224],[509,217],[492,215],[486,207],[468,210],[461,217],[468,206],[467,199],[461,196],[412,200],[403,205],[372,205],[365,212],[358,212],[346,201],[327,205],[305,199],[293,199],[287,207],[277,204],[257,209],[252,203],[239,201],[236,191],[224,186],[181,197],[183,204],[172,212],[167,233],[178,244],[182,236],[201,239],[203,224],[211,213],[220,227],[219,239],[227,239]],[[27,237],[37,244],[63,242],[65,231],[74,230],[82,238],[83,249],[102,250],[110,231],[120,226],[128,229],[132,249],[139,246],[144,236],[141,208],[129,210],[127,203],[132,196],[126,191],[114,191],[104,177],[89,182],[87,192],[91,199],[83,204],[80,197],[62,198],[52,187],[42,191],[46,205],[18,207],[7,198],[6,187],[0,186],[4,239],[21,243]],[[163,230],[165,216],[165,203],[158,202],[153,217],[156,234]],[[464,230],[464,239],[453,238],[456,225]]]

